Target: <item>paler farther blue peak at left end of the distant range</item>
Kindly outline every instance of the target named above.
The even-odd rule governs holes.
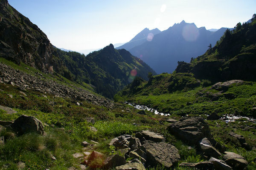
[[[152,30],[145,28],[141,32],[139,32],[139,34],[137,34],[134,38],[132,38],[128,43],[125,43],[124,45],[119,46],[116,49],[126,49],[129,51],[135,46],[139,46],[145,43],[146,41],[151,40],[154,37],[154,35],[157,35],[160,32],[161,31],[157,28]]]

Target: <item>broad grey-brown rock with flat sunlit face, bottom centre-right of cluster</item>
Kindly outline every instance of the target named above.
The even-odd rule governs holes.
[[[140,147],[140,149],[146,153],[147,164],[151,166],[157,166],[157,164],[160,164],[169,168],[180,159],[177,148],[165,142],[146,142]]]

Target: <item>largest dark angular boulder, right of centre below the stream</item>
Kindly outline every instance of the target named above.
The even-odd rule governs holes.
[[[198,144],[198,141],[205,137],[215,144],[204,118],[191,117],[181,119],[181,121],[170,124],[167,130],[169,133],[191,144]]]

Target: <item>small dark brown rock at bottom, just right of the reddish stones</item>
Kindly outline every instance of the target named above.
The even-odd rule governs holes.
[[[108,158],[103,161],[103,167],[105,168],[111,168],[126,164],[125,158],[122,156],[119,156],[118,154],[109,156]]]

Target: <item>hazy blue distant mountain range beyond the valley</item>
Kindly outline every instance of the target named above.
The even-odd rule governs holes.
[[[173,72],[177,61],[189,62],[192,57],[204,54],[209,44],[215,45],[227,28],[215,31],[197,28],[184,20],[169,29],[143,29],[131,41],[116,49],[126,49],[145,61],[157,74]]]

